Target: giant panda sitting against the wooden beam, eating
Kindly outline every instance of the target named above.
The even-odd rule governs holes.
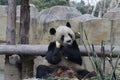
[[[72,69],[79,79],[88,74],[94,75],[94,73],[81,69],[81,53],[69,22],[57,29],[51,28],[50,34],[55,35],[55,41],[50,42],[45,55],[50,66],[39,65],[36,70],[37,78],[49,77],[49,74],[55,73],[56,68],[61,68],[63,71]]]

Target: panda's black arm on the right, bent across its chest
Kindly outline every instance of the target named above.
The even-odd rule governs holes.
[[[68,60],[82,65],[82,58],[76,41],[73,42],[72,46],[64,46],[62,52]]]

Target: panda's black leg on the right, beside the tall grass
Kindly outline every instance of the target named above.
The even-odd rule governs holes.
[[[96,73],[94,71],[90,72],[88,70],[85,70],[85,69],[81,69],[81,70],[77,70],[77,76],[79,79],[82,79],[82,78],[90,78],[90,77],[94,77],[96,76]]]

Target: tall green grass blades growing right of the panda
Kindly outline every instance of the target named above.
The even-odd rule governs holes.
[[[105,41],[103,41],[103,40],[101,41],[101,54],[102,54],[102,56],[98,57],[96,54],[96,51],[94,49],[94,45],[89,42],[86,31],[84,30],[85,39],[86,39],[88,47],[86,47],[86,44],[85,44],[83,39],[82,39],[82,42],[83,42],[85,49],[88,53],[88,57],[89,57],[89,60],[91,61],[92,67],[93,67],[94,71],[96,72],[96,79],[95,80],[120,80],[120,79],[118,79],[118,77],[115,73],[115,71],[117,69],[117,64],[118,64],[120,55],[118,55],[118,57],[116,58],[116,61],[114,63],[113,63],[113,58],[112,58],[112,54],[114,54],[114,47],[113,47],[114,39],[113,39],[113,32],[112,31],[113,30],[111,28],[111,35],[110,35],[110,39],[111,39],[110,40],[111,41],[110,42],[111,43],[110,49],[111,50],[110,50],[109,57],[105,56]],[[105,67],[106,61],[109,62],[110,67],[112,69],[110,73],[108,73],[106,71],[106,67]]]

